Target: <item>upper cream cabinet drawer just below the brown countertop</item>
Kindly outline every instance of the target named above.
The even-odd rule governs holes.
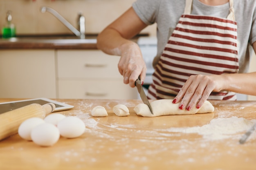
[[[122,77],[117,68],[119,59],[99,50],[58,50],[58,77]]]

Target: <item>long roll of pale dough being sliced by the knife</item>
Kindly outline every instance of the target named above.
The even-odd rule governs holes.
[[[214,107],[209,101],[204,102],[201,108],[192,108],[191,110],[178,108],[179,104],[173,104],[173,99],[159,99],[150,103],[154,115],[151,114],[146,104],[138,104],[134,111],[137,115],[143,117],[157,117],[164,115],[193,115],[195,113],[212,113]]]

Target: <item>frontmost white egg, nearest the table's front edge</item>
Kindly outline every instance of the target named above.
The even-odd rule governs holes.
[[[31,131],[32,141],[39,146],[53,146],[59,138],[60,132],[53,124],[40,124]]]

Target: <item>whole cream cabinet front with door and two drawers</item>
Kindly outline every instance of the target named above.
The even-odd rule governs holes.
[[[137,99],[118,61],[99,50],[0,50],[0,98]]]

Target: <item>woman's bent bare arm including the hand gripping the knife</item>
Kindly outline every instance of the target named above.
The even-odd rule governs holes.
[[[132,7],[104,29],[97,38],[97,47],[111,55],[120,55],[118,69],[124,83],[135,87],[135,81],[146,77],[146,64],[137,43],[130,39],[143,30],[142,22]]]

